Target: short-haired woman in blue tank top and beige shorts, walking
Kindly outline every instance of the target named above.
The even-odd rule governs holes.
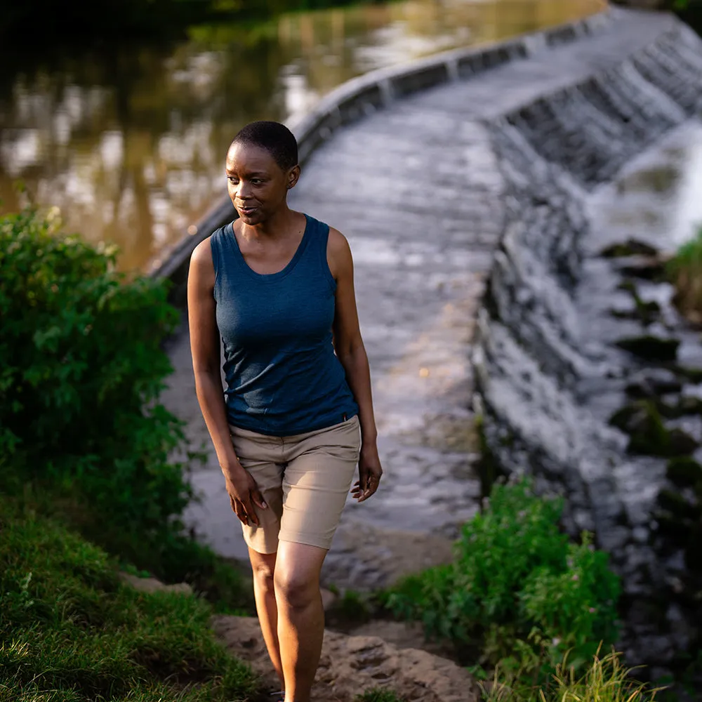
[[[283,699],[308,702],[324,635],[319,572],[356,464],[359,502],[383,472],[368,359],[346,239],[288,207],[300,177],[293,134],[277,122],[249,124],[226,173],[239,218],[190,262],[195,387],[249,546]]]

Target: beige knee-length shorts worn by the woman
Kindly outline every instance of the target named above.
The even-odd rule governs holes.
[[[357,416],[326,429],[272,437],[230,425],[234,451],[268,508],[256,506],[259,526],[241,524],[259,553],[278,541],[328,549],[338,526],[361,450]]]

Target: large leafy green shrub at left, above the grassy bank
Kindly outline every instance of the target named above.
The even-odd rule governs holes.
[[[0,472],[72,511],[113,552],[158,557],[191,497],[159,404],[166,288],[114,272],[114,251],[32,208],[0,218]],[[146,558],[143,557],[142,560]]]

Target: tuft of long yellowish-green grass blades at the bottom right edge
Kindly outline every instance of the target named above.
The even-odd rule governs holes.
[[[619,654],[593,656],[583,675],[578,676],[564,658],[545,687],[525,685],[523,677],[509,673],[501,679],[498,670],[488,687],[483,687],[484,702],[654,702],[657,689],[637,682],[621,664]]]

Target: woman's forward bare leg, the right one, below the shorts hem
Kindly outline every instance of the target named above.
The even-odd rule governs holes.
[[[285,702],[310,702],[324,639],[319,573],[326,549],[281,541],[274,570]]]

